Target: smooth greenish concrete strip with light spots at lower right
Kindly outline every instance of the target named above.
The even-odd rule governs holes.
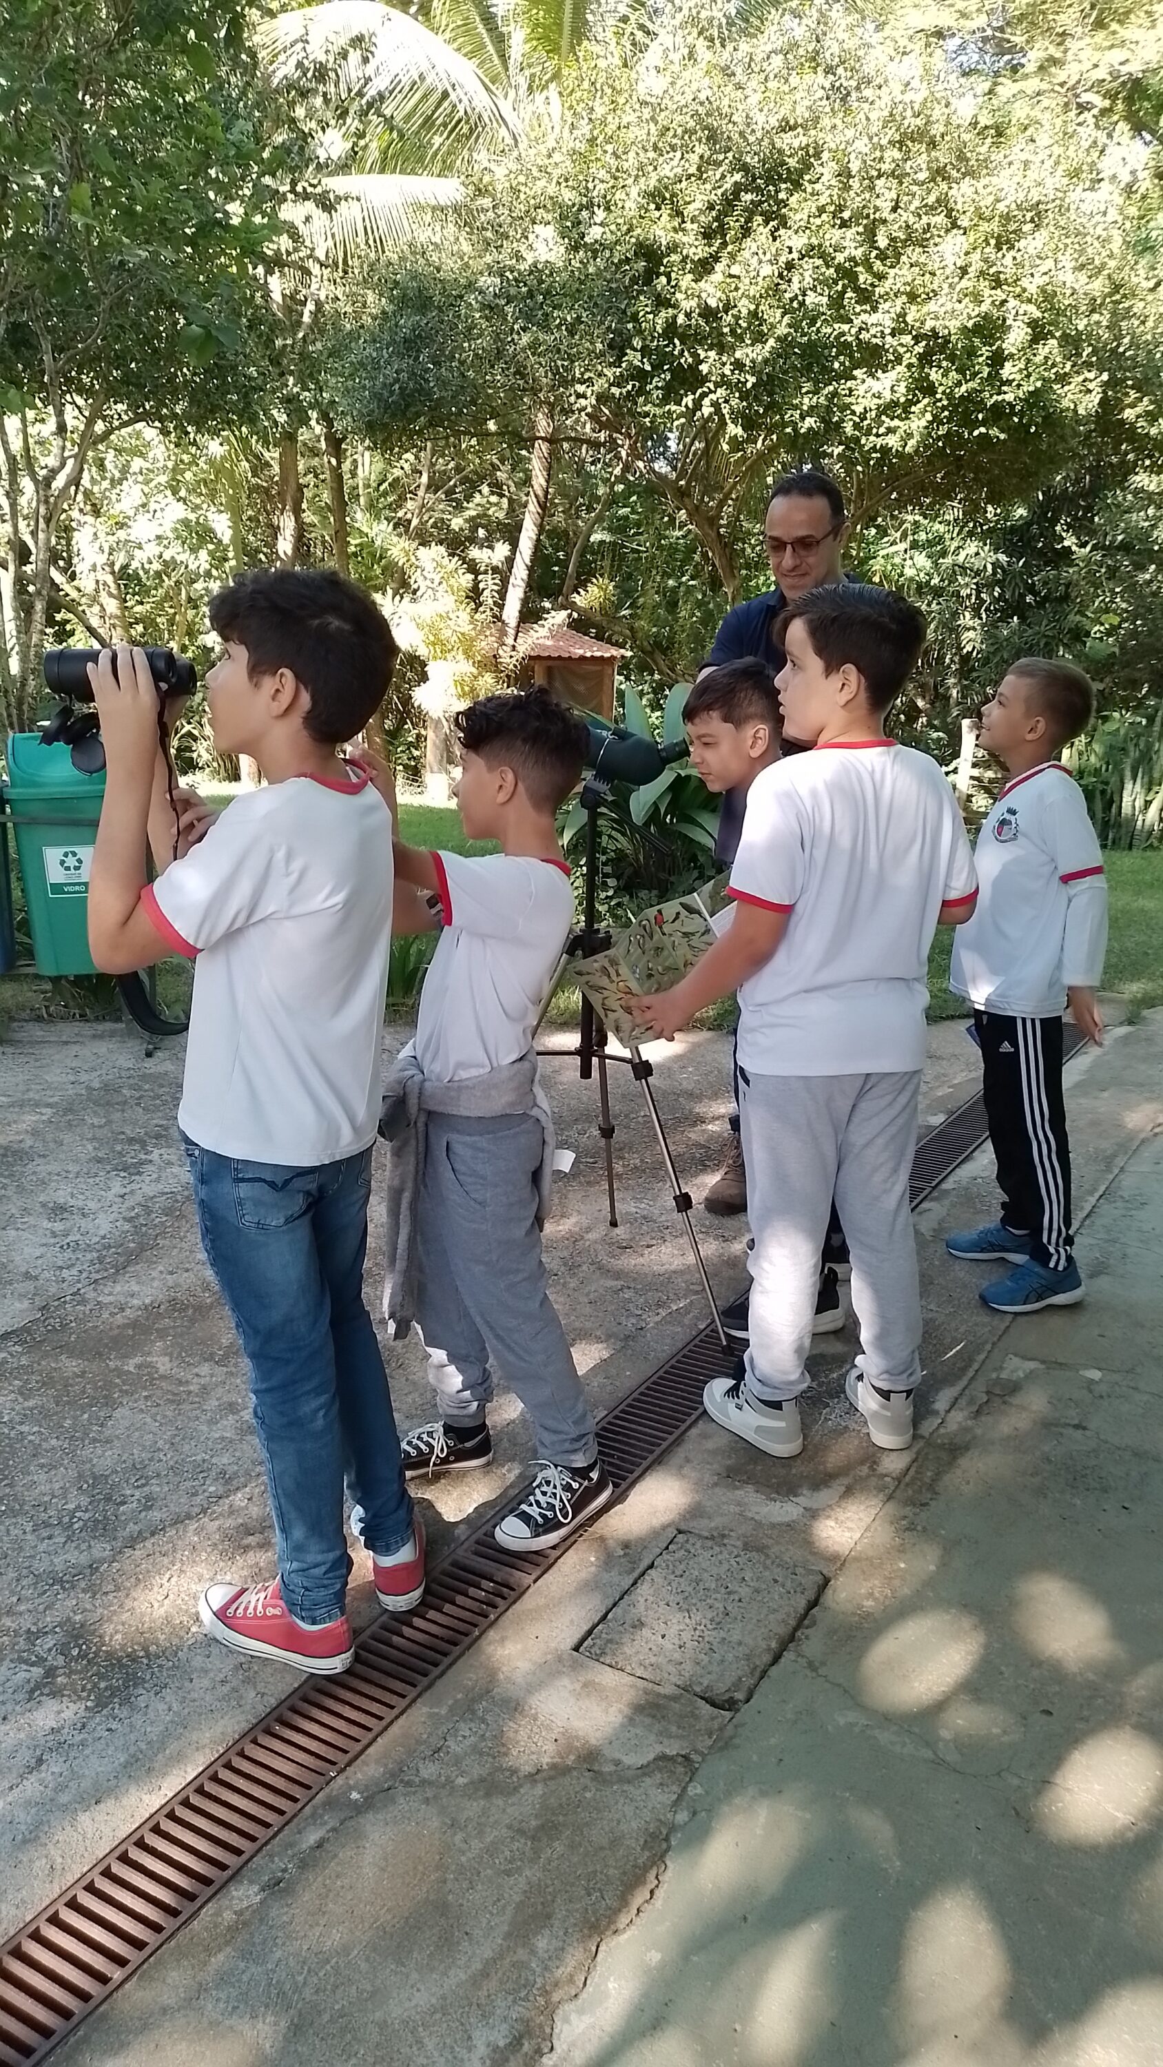
[[[1163,1135],[702,1761],[554,2067],[1163,2061]]]

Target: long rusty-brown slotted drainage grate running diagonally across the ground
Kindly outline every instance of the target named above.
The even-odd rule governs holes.
[[[1066,1036],[1068,1054],[1080,1036]],[[917,1205],[985,1137],[981,1098],[967,1100],[919,1143]],[[603,1416],[597,1443],[616,1492],[626,1492],[702,1414],[702,1387],[731,1360],[702,1329]],[[506,1494],[506,1505],[512,1490]],[[304,1680],[213,1765],[0,1949],[0,2067],[33,2067],[194,1916],[440,1678],[554,1565],[492,1536],[496,1509],[430,1573],[411,1614],[380,1614],[339,1678]]]

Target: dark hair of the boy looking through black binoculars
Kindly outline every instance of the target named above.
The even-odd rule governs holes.
[[[388,695],[397,643],[366,589],[326,568],[258,566],[211,597],[219,639],[246,647],[250,676],[289,668],[310,697],[304,732],[339,746]]]

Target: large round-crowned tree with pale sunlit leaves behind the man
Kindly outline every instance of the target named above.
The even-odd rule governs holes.
[[[789,461],[826,461],[868,525],[1151,444],[1146,147],[828,6],[754,43],[680,29],[585,54],[457,232],[384,269],[337,413],[508,440],[543,409],[593,506],[659,502],[725,599]],[[624,568],[605,593],[630,614]]]

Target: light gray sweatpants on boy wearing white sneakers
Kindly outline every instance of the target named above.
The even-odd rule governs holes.
[[[756,1399],[793,1399],[820,1282],[832,1193],[851,1255],[857,1364],[882,1391],[921,1377],[921,1296],[909,1213],[921,1073],[874,1077],[758,1077],[740,1071],[748,1168],[748,1387]]]

